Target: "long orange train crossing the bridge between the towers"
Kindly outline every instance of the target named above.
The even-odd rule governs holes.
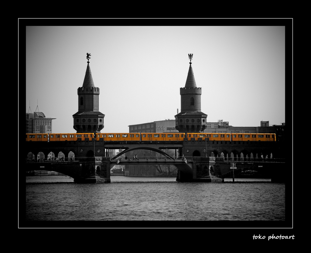
[[[276,141],[276,134],[230,133],[69,133],[26,134],[26,141]]]

